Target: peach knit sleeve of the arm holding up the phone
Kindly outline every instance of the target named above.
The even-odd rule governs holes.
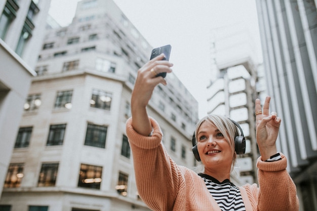
[[[142,136],[132,127],[132,118],[126,123],[126,132],[132,150],[136,184],[143,201],[153,210],[172,210],[178,193],[179,167],[162,145],[162,132],[152,118],[151,136]]]

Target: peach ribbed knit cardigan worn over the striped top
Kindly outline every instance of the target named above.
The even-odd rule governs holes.
[[[159,124],[149,117],[153,134],[145,137],[128,119],[126,132],[133,154],[138,192],[152,210],[221,211],[204,180],[187,167],[177,165],[162,145]],[[296,187],[286,171],[287,160],[257,160],[256,184],[239,187],[246,210],[299,210]]]

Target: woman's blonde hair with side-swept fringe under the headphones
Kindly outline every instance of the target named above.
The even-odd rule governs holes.
[[[223,134],[223,137],[228,142],[231,152],[233,154],[232,156],[232,163],[231,163],[231,172],[233,171],[235,161],[236,161],[236,153],[234,149],[234,138],[236,136],[239,136],[239,131],[236,127],[236,125],[227,117],[217,115],[217,114],[211,114],[209,116],[203,117],[199,122],[196,123],[195,128],[195,134],[198,133],[198,130],[203,122],[208,121],[212,123],[219,131]],[[195,137],[195,142],[197,143],[197,136]]]

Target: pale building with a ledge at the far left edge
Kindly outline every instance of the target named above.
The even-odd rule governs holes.
[[[50,2],[0,1],[0,197]]]

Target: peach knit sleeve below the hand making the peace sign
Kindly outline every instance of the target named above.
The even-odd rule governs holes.
[[[258,210],[299,210],[296,186],[286,171],[287,159],[265,162],[257,160]]]

